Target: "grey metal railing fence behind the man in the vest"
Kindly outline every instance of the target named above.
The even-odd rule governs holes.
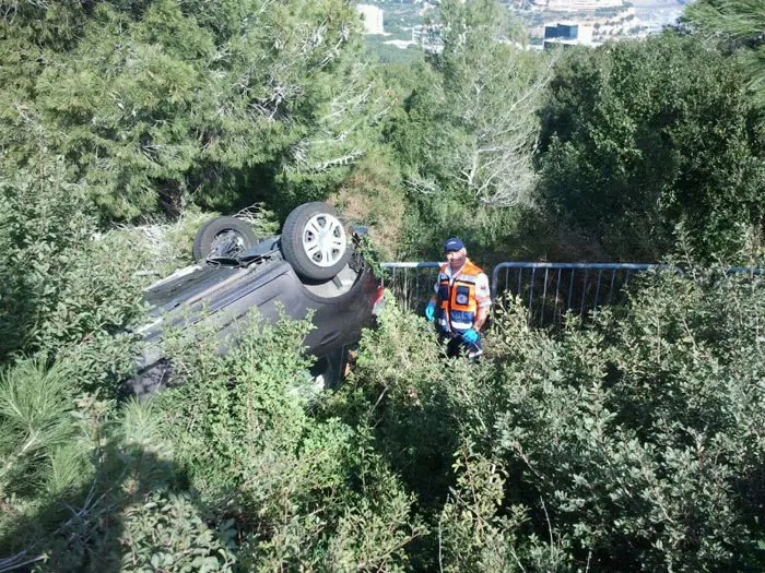
[[[384,284],[408,309],[422,312],[433,296],[438,268],[444,263],[382,263]],[[491,274],[492,298],[517,296],[533,325],[558,323],[566,311],[580,317],[597,314],[602,306],[622,303],[625,287],[635,273],[667,265],[632,263],[506,262]]]

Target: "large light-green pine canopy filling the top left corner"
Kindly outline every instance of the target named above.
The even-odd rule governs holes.
[[[379,104],[342,0],[20,3],[0,26],[0,160],[63,155],[110,216],[220,198],[255,167],[320,182]]]

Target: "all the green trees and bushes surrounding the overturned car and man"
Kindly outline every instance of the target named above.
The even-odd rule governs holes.
[[[765,568],[761,0],[519,52],[490,0],[366,59],[340,0],[0,3],[0,571]],[[479,365],[391,297],[325,395],[308,323],[121,384],[141,288],[210,210],[322,199],[386,258],[672,259],[561,331],[504,300]],[[681,259],[678,261],[678,259]]]

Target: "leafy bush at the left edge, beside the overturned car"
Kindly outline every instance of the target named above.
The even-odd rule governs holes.
[[[0,181],[0,357],[57,353],[115,333],[142,310],[133,276],[142,253],[115,236],[94,240],[86,190],[61,158]]]

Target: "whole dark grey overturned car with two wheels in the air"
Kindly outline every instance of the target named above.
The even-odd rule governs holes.
[[[348,229],[333,207],[319,202],[295,208],[274,237],[258,239],[234,217],[212,219],[195,238],[198,263],[144,291],[152,320],[138,331],[145,345],[128,390],[141,396],[169,383],[172,365],[162,351],[167,331],[212,327],[223,353],[236,338],[240,319],[256,308],[269,322],[313,312],[306,351],[318,358],[319,381],[336,385],[349,348],[382,303],[382,288],[360,249],[365,232]]]

